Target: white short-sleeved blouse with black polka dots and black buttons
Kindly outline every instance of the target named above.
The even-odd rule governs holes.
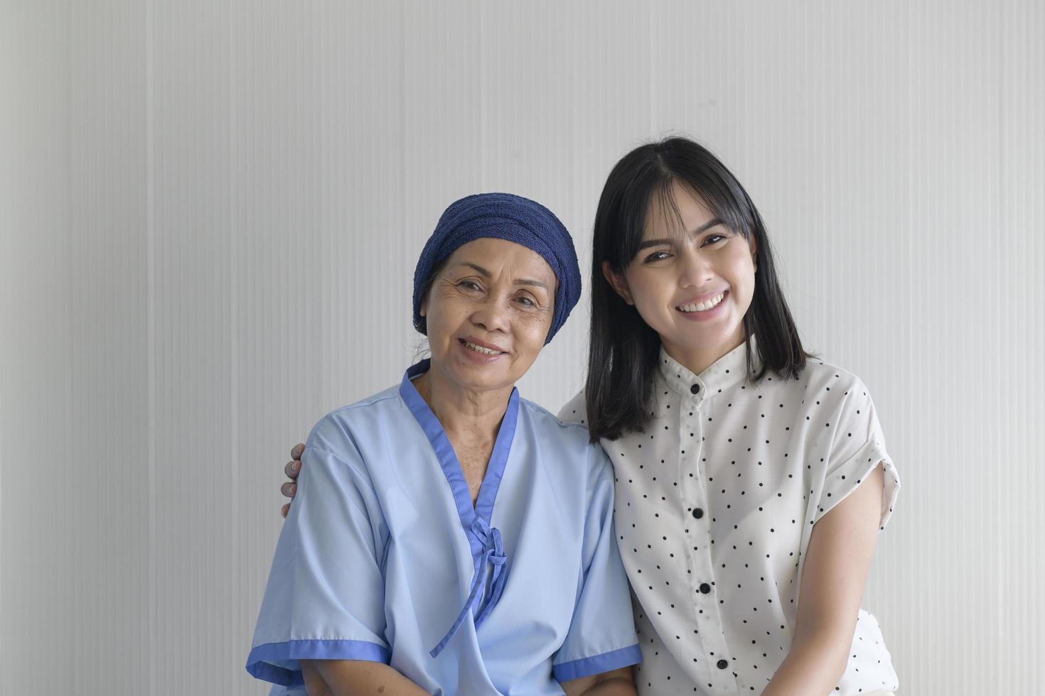
[[[661,350],[649,429],[602,442],[640,694],[761,693],[791,645],[813,525],[879,462],[882,528],[900,488],[857,377],[810,359],[798,380],[770,373],[752,385],[746,359],[741,345],[694,375]],[[580,393],[559,417],[584,414]],[[878,622],[861,609],[834,693],[897,688]]]

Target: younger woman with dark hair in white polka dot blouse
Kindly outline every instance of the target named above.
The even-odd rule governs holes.
[[[591,288],[586,387],[559,417],[613,463],[640,693],[890,693],[860,599],[897,472],[867,388],[804,350],[743,187],[687,139],[629,152]]]

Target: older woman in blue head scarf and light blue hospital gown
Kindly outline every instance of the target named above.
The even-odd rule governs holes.
[[[421,253],[432,358],[308,437],[247,669],[274,694],[633,694],[613,478],[515,382],[577,304],[562,223],[451,205]]]

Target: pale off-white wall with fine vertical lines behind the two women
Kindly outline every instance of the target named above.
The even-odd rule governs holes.
[[[263,693],[281,466],[399,379],[442,208],[535,197],[586,268],[610,166],[673,131],[874,391],[901,693],[1037,693],[1043,34],[1034,0],[0,0],[0,693]],[[522,384],[552,408],[586,297]]]

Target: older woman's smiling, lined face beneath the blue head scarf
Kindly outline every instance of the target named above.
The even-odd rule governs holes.
[[[539,254],[503,239],[458,248],[421,303],[432,368],[463,388],[513,385],[552,327],[555,273]]]

